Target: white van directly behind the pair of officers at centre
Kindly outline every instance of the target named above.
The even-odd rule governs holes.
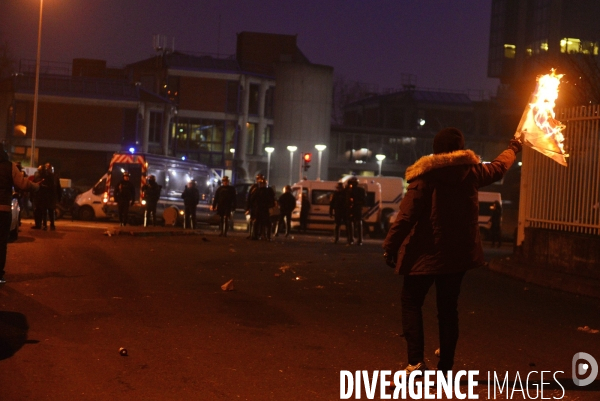
[[[310,203],[308,212],[308,230],[333,230],[335,222],[329,217],[329,204],[338,181],[302,180],[292,186],[296,198],[296,208],[292,212],[292,228],[300,226],[300,209],[302,195],[306,195]],[[379,233],[381,217],[381,185],[376,182],[361,183],[365,189],[366,201],[363,207],[363,227],[371,235]]]

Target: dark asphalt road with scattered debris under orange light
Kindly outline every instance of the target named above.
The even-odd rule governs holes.
[[[208,227],[185,236],[106,235],[114,223],[57,227],[30,230],[25,220],[9,244],[2,401],[337,400],[341,370],[406,364],[402,279],[383,264],[381,241],[347,247],[326,235],[264,242]],[[234,289],[223,291],[229,280]],[[425,305],[432,366],[434,298]],[[544,397],[600,400],[599,379],[587,388],[571,380],[575,353],[600,361],[600,334],[578,330],[600,329],[597,299],[478,269],[465,278],[460,320],[456,369],[509,372],[511,382],[517,372],[524,381],[532,371],[562,371],[560,386],[546,376]]]

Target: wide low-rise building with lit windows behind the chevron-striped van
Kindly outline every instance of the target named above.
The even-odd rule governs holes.
[[[289,170],[286,147],[329,137],[333,69],[311,64],[292,35],[242,32],[237,42],[227,58],[161,49],[123,69],[101,60],[74,60],[62,73],[44,68],[36,164],[50,161],[91,185],[113,152],[131,149],[198,161],[237,181],[273,172],[273,185],[288,184],[278,174]],[[23,165],[33,142],[33,71],[0,86],[0,137]],[[274,148],[272,160],[265,147]]]

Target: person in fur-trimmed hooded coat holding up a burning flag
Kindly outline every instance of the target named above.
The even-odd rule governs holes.
[[[421,308],[435,284],[440,338],[438,370],[454,365],[458,342],[458,295],[467,270],[482,266],[479,234],[480,187],[500,180],[522,149],[512,139],[491,163],[465,150],[457,128],[441,130],[433,154],[406,169],[408,190],[383,243],[385,262],[404,276],[402,326],[407,343],[407,373],[427,368]]]

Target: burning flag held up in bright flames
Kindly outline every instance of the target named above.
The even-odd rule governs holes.
[[[554,118],[554,105],[562,77],[563,74],[555,74],[552,70],[550,74],[537,78],[535,92],[521,117],[515,138],[566,167],[566,157],[569,155],[565,154],[563,148],[565,138],[562,130],[565,126]]]

